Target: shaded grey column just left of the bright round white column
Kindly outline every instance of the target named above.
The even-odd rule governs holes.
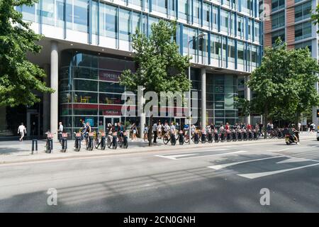
[[[47,77],[44,78],[45,85],[50,87],[50,65],[44,67]],[[43,135],[50,129],[50,93],[43,94]]]

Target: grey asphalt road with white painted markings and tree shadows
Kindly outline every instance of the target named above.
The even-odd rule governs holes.
[[[0,212],[52,211],[319,212],[319,142],[0,165]]]

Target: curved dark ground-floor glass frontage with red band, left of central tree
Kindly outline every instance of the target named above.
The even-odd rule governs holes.
[[[121,97],[125,88],[119,85],[118,77],[127,69],[134,72],[135,63],[123,57],[102,57],[94,52],[77,50],[62,52],[59,74],[60,118],[67,132],[77,131],[80,120],[90,121],[92,128],[97,128],[104,116],[121,117],[124,104]]]

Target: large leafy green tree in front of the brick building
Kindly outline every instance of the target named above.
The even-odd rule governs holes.
[[[309,50],[287,50],[279,38],[274,48],[265,48],[262,64],[247,82],[254,92],[251,109],[264,116],[264,123],[269,116],[291,119],[292,114],[298,122],[303,111],[318,104],[317,72]]]

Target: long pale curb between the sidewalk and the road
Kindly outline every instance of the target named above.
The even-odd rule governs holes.
[[[303,139],[303,140],[315,140],[315,139]],[[282,142],[282,140],[279,141],[279,139],[268,139],[267,141],[264,140],[258,140],[260,142],[259,143],[269,143],[269,142]],[[241,145],[240,143],[241,141],[236,141],[233,142],[235,143],[235,145]],[[252,140],[250,141],[250,143],[244,143],[242,145],[250,145],[253,143],[256,143],[256,140]],[[196,147],[175,147],[176,149],[174,150],[191,150],[194,148],[213,148],[214,146],[208,146],[206,145],[207,143],[201,144],[198,143],[198,145],[196,145]],[[209,144],[215,144],[213,143],[209,143]],[[218,145],[219,147],[223,147],[223,146],[227,146],[227,145],[232,145],[232,143],[229,142],[224,142],[224,143],[217,143],[217,144],[223,144],[223,145]],[[194,145],[194,144],[193,144]],[[168,147],[168,146],[166,146]],[[149,148],[149,147],[147,147]],[[151,147],[152,148],[152,147]],[[153,147],[154,148],[154,147]],[[180,149],[179,149],[180,148]],[[216,146],[215,146],[216,148]],[[69,159],[73,159],[73,158],[85,158],[85,157],[103,157],[103,156],[113,156],[113,155],[128,155],[128,154],[138,154],[138,153],[150,153],[150,152],[160,152],[160,151],[169,151],[171,149],[152,149],[152,150],[135,150],[135,151],[124,151],[124,152],[119,152],[119,153],[103,153],[103,154],[97,154],[97,153],[93,153],[93,154],[88,154],[88,155],[69,155],[67,157],[43,157],[43,158],[38,158],[38,159],[26,159],[26,160],[9,160],[9,161],[0,161],[0,165],[6,165],[6,164],[14,164],[14,163],[25,163],[25,162],[42,162],[42,161],[50,161],[50,160],[69,160]]]

